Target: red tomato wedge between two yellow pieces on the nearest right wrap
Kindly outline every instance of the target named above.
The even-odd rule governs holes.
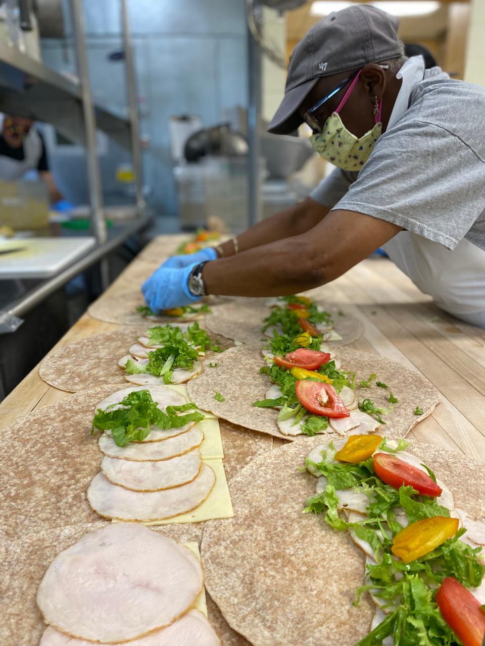
[[[374,455],[374,471],[380,479],[394,489],[401,485],[412,486],[422,495],[435,497],[441,495],[442,488],[433,482],[429,475],[412,464],[400,460],[388,453]]]

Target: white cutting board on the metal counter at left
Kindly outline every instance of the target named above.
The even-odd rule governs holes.
[[[0,279],[48,278],[85,255],[96,244],[92,236],[72,238],[10,238],[0,241]]]

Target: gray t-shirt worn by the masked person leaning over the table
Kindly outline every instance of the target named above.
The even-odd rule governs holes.
[[[485,250],[485,88],[426,70],[361,171],[335,169],[310,197],[448,249],[467,238]]]

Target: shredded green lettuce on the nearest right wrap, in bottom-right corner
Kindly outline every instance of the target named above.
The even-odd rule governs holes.
[[[390,447],[383,439],[378,450],[405,450],[402,440]],[[335,530],[352,530],[367,541],[376,555],[376,563],[367,565],[365,585],[356,590],[354,605],[363,594],[380,599],[388,614],[385,619],[356,646],[379,646],[392,636],[394,646],[459,646],[460,642],[447,626],[435,602],[435,594],[444,578],[455,577],[468,588],[479,587],[485,574],[480,559],[481,547],[471,548],[460,540],[464,528],[435,550],[411,563],[396,559],[391,552],[393,537],[402,530],[396,510],[403,511],[409,524],[424,518],[449,516],[449,510],[432,497],[419,495],[411,486],[395,490],[375,474],[372,457],[359,463],[335,463],[334,451],[322,452],[319,463],[306,466],[327,478],[323,492],[305,501],[303,512],[320,514]],[[429,470],[430,476],[433,474]],[[434,474],[433,474],[434,475]],[[337,491],[346,488],[363,490],[369,498],[367,516],[349,523],[338,514]]]

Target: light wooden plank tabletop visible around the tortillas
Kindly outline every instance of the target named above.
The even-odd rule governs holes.
[[[144,253],[162,262],[186,238],[159,236]],[[132,265],[142,262],[137,259]],[[122,274],[105,294],[127,287],[136,289]],[[332,291],[332,301],[345,306],[365,327],[352,347],[397,360],[440,391],[442,403],[410,437],[485,461],[485,329],[446,315],[385,258],[364,260],[334,281]],[[58,346],[117,327],[84,314]],[[0,403],[0,427],[70,394],[43,382],[36,367]]]

